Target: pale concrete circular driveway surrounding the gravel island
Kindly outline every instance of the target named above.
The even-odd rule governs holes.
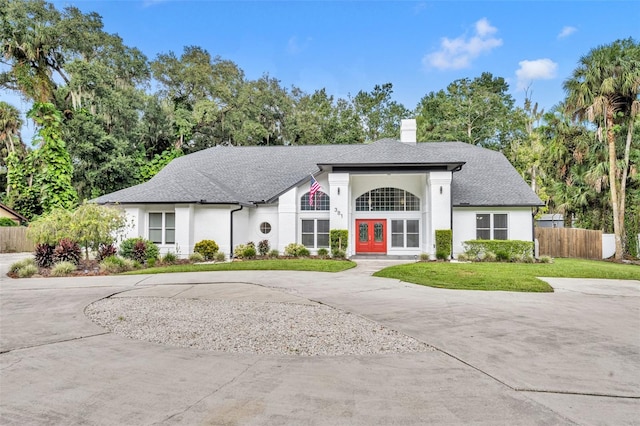
[[[3,273],[0,423],[640,424],[640,282],[549,279],[556,292],[547,294],[452,291],[370,276],[384,266],[24,280]],[[168,285],[228,283],[331,305],[436,350],[206,352],[129,340],[83,314],[115,293],[170,297]]]

